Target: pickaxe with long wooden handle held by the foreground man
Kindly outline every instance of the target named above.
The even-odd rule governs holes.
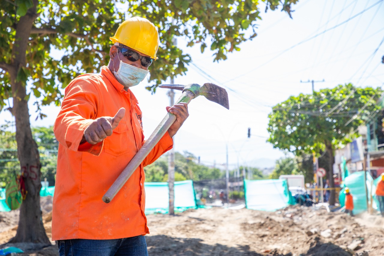
[[[204,95],[210,101],[214,101],[223,107],[229,109],[228,103],[228,93],[224,88],[221,88],[218,85],[213,83],[205,83],[203,86],[200,86],[196,83],[191,83],[189,85],[160,85],[161,88],[169,88],[182,90],[180,98],[177,100],[177,103],[185,102],[189,103],[192,99],[196,98],[199,95]],[[159,142],[159,140],[164,136],[169,127],[176,120],[176,116],[171,113],[167,113],[164,119],[153,131],[148,140],[144,143],[141,149],[136,153],[132,160],[128,163],[127,167],[121,172],[119,177],[115,180],[109,190],[104,194],[103,201],[109,203],[114,196],[119,192],[122,186],[127,182],[132,173],[137,169],[137,167],[144,161],[146,156],[151,152],[152,148]]]

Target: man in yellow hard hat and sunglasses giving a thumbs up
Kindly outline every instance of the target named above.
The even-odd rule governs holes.
[[[71,81],[53,128],[60,145],[52,239],[60,255],[148,255],[143,168],[172,148],[189,115],[186,103],[166,107],[176,121],[114,200],[104,203],[103,194],[144,144],[142,113],[129,87],[157,59],[159,35],[149,20],[133,17],[111,40],[108,66]]]

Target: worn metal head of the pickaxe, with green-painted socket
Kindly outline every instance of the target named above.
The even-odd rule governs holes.
[[[203,86],[197,83],[190,83],[189,85],[160,85],[160,88],[175,89],[180,91],[191,91],[196,98],[199,95],[205,96],[210,101],[222,105],[224,108],[229,109],[228,93],[227,91],[214,83],[205,83]]]

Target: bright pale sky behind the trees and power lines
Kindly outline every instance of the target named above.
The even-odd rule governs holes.
[[[293,6],[293,19],[285,12],[262,12],[257,37],[240,45],[240,52],[213,62],[212,52],[200,52],[200,46],[186,47],[183,38],[177,45],[192,56],[187,74],[175,78],[176,84],[206,82],[226,88],[230,110],[200,96],[189,104],[190,116],[174,137],[175,151],[189,151],[202,163],[230,169],[239,165],[272,166],[284,153],[273,149],[268,138],[268,113],[271,107],[291,95],[310,94],[314,90],[338,84],[355,86],[384,85],[384,5],[383,0],[306,0]],[[260,4],[260,10],[265,6]],[[323,82],[324,80],[324,82]],[[316,82],[318,81],[318,82]],[[169,83],[166,81],[165,83]],[[132,88],[143,111],[144,135],[148,138],[169,105],[167,89],[151,95],[144,87]],[[180,93],[176,91],[175,100]],[[43,109],[48,118],[33,126],[53,125],[59,108]],[[11,120],[0,113],[0,123]],[[251,138],[247,138],[248,127]],[[270,161],[266,161],[270,160]],[[268,162],[268,164],[266,164]]]

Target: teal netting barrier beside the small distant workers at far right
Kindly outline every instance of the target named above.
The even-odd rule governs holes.
[[[343,207],[345,205],[345,187],[349,188],[349,191],[351,192],[353,197],[354,214],[359,214],[363,211],[367,211],[367,193],[364,186],[364,173],[366,173],[368,204],[370,204],[371,194],[374,195],[378,180],[373,180],[372,176],[365,171],[357,171],[345,177],[343,183],[344,188],[340,190],[339,193],[339,202],[341,207]],[[374,197],[374,200],[372,201],[372,208],[377,209],[378,204],[379,202],[377,201],[376,197]]]

